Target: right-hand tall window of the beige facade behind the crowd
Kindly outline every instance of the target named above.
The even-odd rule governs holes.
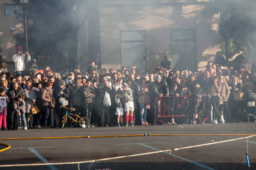
[[[196,30],[171,30],[173,69],[197,71]]]

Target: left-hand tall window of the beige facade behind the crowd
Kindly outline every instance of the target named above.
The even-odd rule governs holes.
[[[146,30],[120,31],[121,66],[139,65],[142,54],[146,54]]]

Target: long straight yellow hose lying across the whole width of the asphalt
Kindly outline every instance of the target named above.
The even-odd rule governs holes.
[[[22,139],[65,139],[65,138],[92,138],[92,137],[132,137],[132,136],[251,136],[252,134],[138,134],[138,135],[109,135],[109,136],[66,136],[66,137],[31,137],[31,138],[6,138],[0,140],[22,140]]]

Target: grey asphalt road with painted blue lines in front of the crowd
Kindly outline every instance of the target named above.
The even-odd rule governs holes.
[[[109,136],[136,134],[190,134],[195,136],[135,136],[67,139],[1,140],[11,148],[0,152],[0,165],[83,162],[91,163],[0,167],[0,169],[248,169],[247,139],[198,146],[171,152],[114,158],[186,146],[241,138],[245,136],[198,136],[198,134],[256,134],[256,123],[157,125],[104,128],[29,129],[1,131],[0,138]],[[5,148],[0,145],[0,149]],[[256,169],[256,137],[248,138],[251,168]]]

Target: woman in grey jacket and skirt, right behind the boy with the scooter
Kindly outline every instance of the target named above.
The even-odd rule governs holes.
[[[32,90],[32,83],[27,81],[25,84],[24,95],[25,95],[25,103],[26,103],[26,120],[28,124],[28,129],[33,129],[33,120],[34,116],[30,113],[31,105],[36,103],[36,94],[34,90]],[[30,122],[29,122],[30,121]],[[36,128],[36,127],[35,127]]]

